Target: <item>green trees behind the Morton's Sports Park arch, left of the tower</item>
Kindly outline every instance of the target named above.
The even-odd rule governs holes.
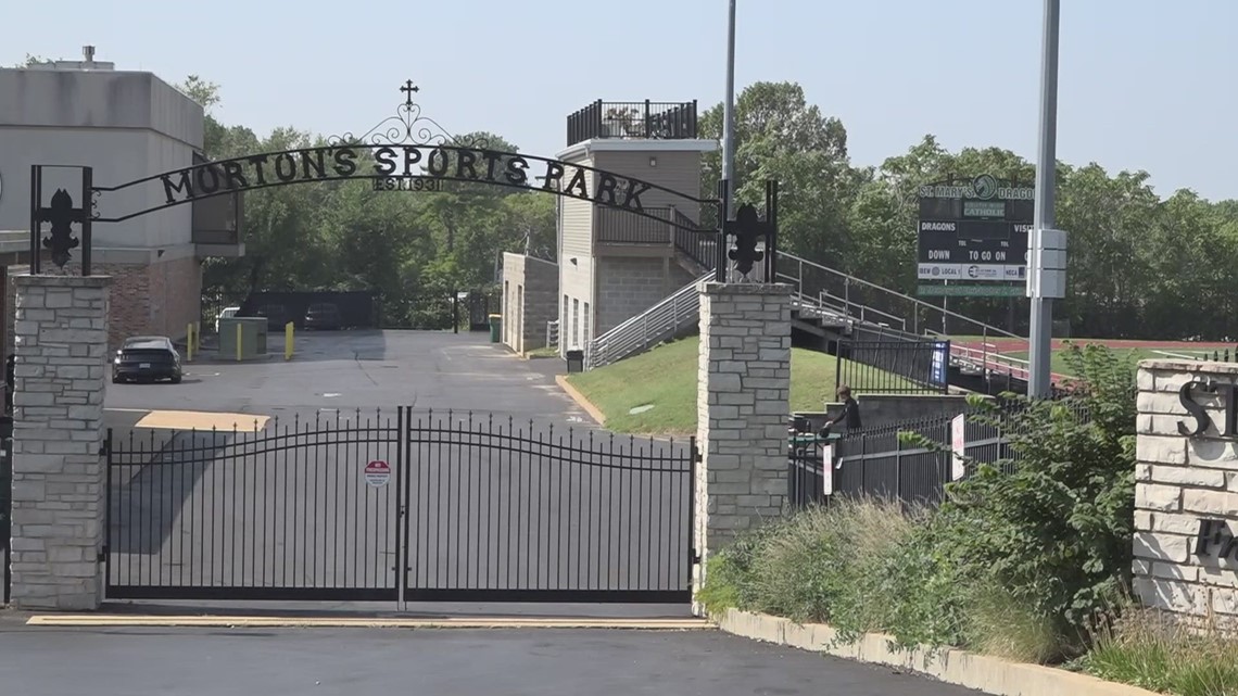
[[[225,160],[311,147],[322,139],[291,128],[265,137],[219,123],[218,84],[191,76],[178,88],[207,109],[204,149]],[[516,151],[488,133],[462,142]],[[387,326],[448,327],[452,298],[493,287],[504,251],[553,259],[555,201],[515,188],[463,182],[441,192],[376,192],[369,182],[281,186],[245,194],[239,259],[203,264],[203,291],[239,301],[258,290],[373,290]]]

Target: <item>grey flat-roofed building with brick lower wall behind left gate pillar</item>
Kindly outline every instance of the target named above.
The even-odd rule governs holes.
[[[95,187],[120,186],[204,161],[203,125],[196,102],[152,73],[94,61],[93,47],[80,62],[0,69],[0,230],[20,230],[28,239],[31,165],[89,166]],[[66,188],[80,204],[78,171],[46,172],[45,198]],[[161,196],[152,186],[106,192],[98,212],[120,217],[160,204]],[[203,260],[244,249],[238,225],[219,224],[217,209],[227,203],[220,197],[94,224],[92,272],[114,279],[113,343],[140,333],[180,338],[198,321]],[[80,272],[79,260],[74,250],[66,272]],[[59,272],[47,261],[43,269]],[[21,266],[6,271],[28,272]],[[6,285],[11,297],[12,284]]]

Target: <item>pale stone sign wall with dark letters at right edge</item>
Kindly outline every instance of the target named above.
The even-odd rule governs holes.
[[[1149,607],[1222,624],[1238,622],[1236,384],[1232,363],[1139,367],[1134,589]]]

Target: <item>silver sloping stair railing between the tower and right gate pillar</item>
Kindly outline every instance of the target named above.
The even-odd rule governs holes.
[[[682,336],[701,322],[697,285],[713,272],[693,280],[661,302],[620,323],[584,347],[584,369],[600,368]]]

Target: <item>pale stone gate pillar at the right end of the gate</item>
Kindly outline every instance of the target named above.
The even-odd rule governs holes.
[[[786,504],[791,289],[703,282],[697,381],[696,550],[777,518]]]

